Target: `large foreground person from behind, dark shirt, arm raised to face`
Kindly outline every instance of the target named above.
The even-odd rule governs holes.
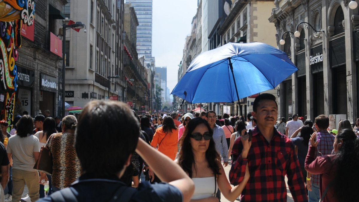
[[[98,127],[101,125],[102,127]],[[139,139],[139,124],[122,102],[91,101],[83,109],[76,130],[75,148],[83,174],[71,187],[40,202],[189,201],[194,183],[164,154]],[[99,138],[99,134],[102,134]],[[106,145],[101,150],[84,145]],[[120,182],[131,155],[137,152],[165,183],[141,182],[138,189]],[[95,160],[94,160],[95,159]],[[61,198],[55,199],[55,198]]]

